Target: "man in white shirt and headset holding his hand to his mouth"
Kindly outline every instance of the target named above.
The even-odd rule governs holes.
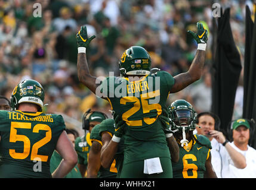
[[[241,153],[232,147],[220,128],[220,119],[211,112],[201,112],[196,118],[198,134],[205,135],[211,141],[212,167],[218,178],[232,178],[230,165],[243,169],[246,167],[246,159]]]

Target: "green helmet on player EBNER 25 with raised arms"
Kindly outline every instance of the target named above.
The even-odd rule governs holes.
[[[150,74],[150,67],[149,52],[140,46],[129,47],[119,60],[119,70],[122,77],[125,75],[148,75]]]

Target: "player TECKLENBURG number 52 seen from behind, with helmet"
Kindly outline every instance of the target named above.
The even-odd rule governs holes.
[[[24,80],[11,94],[12,111],[0,110],[0,178],[63,178],[77,163],[63,117],[42,113],[44,89]],[[53,151],[63,160],[51,175]]]

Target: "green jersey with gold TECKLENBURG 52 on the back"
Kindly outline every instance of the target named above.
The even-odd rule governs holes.
[[[63,117],[0,110],[0,178],[51,178],[50,159],[66,129]]]

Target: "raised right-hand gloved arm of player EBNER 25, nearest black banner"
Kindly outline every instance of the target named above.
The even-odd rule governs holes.
[[[188,85],[194,83],[201,78],[203,65],[205,62],[205,49],[206,42],[208,40],[208,31],[203,27],[201,23],[197,23],[198,32],[193,33],[193,31],[188,31],[188,33],[196,40],[198,43],[198,50],[196,52],[195,58],[190,65],[189,71],[178,74],[174,77],[175,83],[172,86],[170,93],[176,93],[183,90]]]

